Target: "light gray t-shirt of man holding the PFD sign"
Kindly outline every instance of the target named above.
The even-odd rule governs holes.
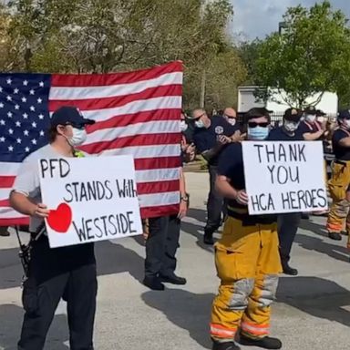
[[[28,157],[26,157],[26,160],[23,161],[22,166],[18,171],[13,190],[25,194],[36,203],[41,203],[42,200],[38,160],[60,158],[65,157],[59,154],[51,145],[46,145],[31,153]],[[31,232],[36,232],[37,228],[42,222],[43,220],[40,218],[31,217],[29,230]]]

